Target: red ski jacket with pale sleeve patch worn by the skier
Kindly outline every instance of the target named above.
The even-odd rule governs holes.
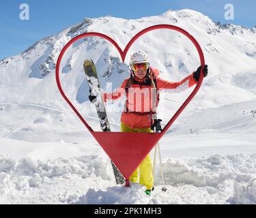
[[[160,90],[172,89],[172,92],[180,93],[197,84],[193,74],[180,82],[169,82],[159,77],[158,69],[150,67],[150,72],[154,78],[151,84],[127,78],[113,93],[103,93],[104,102],[119,99],[126,94],[126,107],[122,112],[121,122],[132,129],[151,127],[152,114],[156,113]]]

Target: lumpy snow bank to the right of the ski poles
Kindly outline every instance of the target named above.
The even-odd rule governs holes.
[[[256,175],[256,155],[212,155],[202,158],[167,159],[163,163],[165,181],[170,185],[219,188],[226,181],[248,182]],[[156,170],[156,185],[160,185]]]

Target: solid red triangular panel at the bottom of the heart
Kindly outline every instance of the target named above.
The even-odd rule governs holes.
[[[134,132],[91,132],[115,166],[128,180],[154,148],[162,134]]]

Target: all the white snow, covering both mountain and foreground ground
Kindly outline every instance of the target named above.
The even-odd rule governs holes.
[[[155,189],[146,196],[139,184],[115,185],[109,158],[57,89],[55,63],[61,48],[81,33],[104,33],[124,48],[136,33],[158,24],[193,35],[209,74],[160,140],[167,191],[161,191],[157,160]],[[221,25],[193,10],[137,20],[85,18],[0,61],[0,204],[256,204],[255,34],[255,28]],[[134,42],[125,63],[97,37],[79,40],[63,56],[63,90],[94,130],[100,125],[88,101],[83,61],[94,60],[100,86],[111,91],[129,76],[128,60],[139,49],[167,80],[180,80],[199,66],[191,42],[163,29]],[[161,93],[163,125],[190,91]],[[123,103],[106,105],[112,131],[119,131]]]

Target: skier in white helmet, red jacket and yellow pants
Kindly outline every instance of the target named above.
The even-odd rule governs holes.
[[[130,58],[130,78],[122,83],[113,93],[104,93],[104,102],[109,99],[118,99],[126,95],[125,109],[121,116],[121,131],[124,132],[152,132],[156,123],[156,108],[159,102],[159,91],[161,89],[173,89],[173,92],[180,93],[193,87],[199,80],[201,66],[180,82],[169,82],[159,77],[158,69],[150,65],[147,54],[143,51],[135,52]],[[203,75],[207,76],[208,65],[203,69]],[[95,96],[89,96],[91,102]],[[139,175],[138,176],[138,171]],[[130,176],[130,181],[138,182],[146,186],[150,195],[154,179],[152,175],[152,161],[150,155],[142,161],[141,165]]]

